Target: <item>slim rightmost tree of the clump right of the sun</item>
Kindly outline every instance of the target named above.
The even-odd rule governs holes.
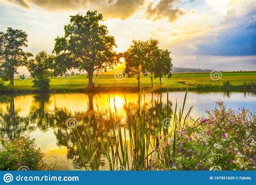
[[[172,76],[172,59],[170,58],[170,53],[168,50],[159,50],[157,63],[153,66],[154,78],[159,78],[160,85],[162,84],[162,77],[167,76],[170,78]]]

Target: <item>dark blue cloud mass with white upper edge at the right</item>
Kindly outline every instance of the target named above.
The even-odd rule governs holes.
[[[251,4],[252,8],[255,4]],[[212,56],[256,55],[256,15],[249,6],[230,9],[223,21],[215,27],[217,32],[205,37],[198,46],[198,54]],[[214,32],[214,31],[213,31]]]

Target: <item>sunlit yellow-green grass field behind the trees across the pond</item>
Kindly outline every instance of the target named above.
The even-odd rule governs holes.
[[[231,90],[244,90],[244,83],[254,86],[256,81],[256,72],[223,72],[222,77],[218,80],[212,80],[210,73],[174,73],[170,79],[163,78],[162,86],[160,86],[159,79],[153,80],[154,87],[151,87],[150,77],[141,78],[141,86],[146,90],[156,91],[164,90],[167,87],[172,91],[178,90],[199,90],[199,91],[213,91],[224,90],[223,83],[230,81]],[[86,75],[58,77],[51,79],[51,91],[86,91],[88,79]],[[113,75],[99,75],[93,77],[95,84],[95,91],[100,90],[117,90],[117,91],[132,91],[138,90],[138,80],[136,77],[124,79],[115,79]],[[9,85],[9,81],[5,81],[5,85]],[[35,89],[32,87],[32,79],[19,80],[15,79],[15,88],[9,87],[9,92],[32,92]]]

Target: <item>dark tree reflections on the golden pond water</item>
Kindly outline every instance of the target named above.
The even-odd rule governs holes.
[[[128,117],[134,117],[134,114],[139,114],[140,110],[145,108],[147,114],[146,121],[153,128],[159,126],[158,113],[160,110],[165,110],[166,104],[161,101],[161,94],[159,94],[158,99],[153,99],[151,102],[144,102],[141,105],[143,96],[138,94],[137,103],[127,102],[127,104],[120,105],[123,106],[125,114],[118,115],[112,110],[112,114],[104,109],[97,109],[93,106],[93,94],[88,95],[88,105],[86,111],[76,111],[71,112],[67,107],[57,107],[54,106],[53,111],[49,111],[49,101],[50,94],[36,94],[33,96],[34,103],[30,107],[29,114],[26,117],[21,117],[17,114],[15,109],[15,97],[6,97],[1,99],[1,102],[8,102],[8,106],[5,110],[2,110],[2,122],[0,123],[0,136],[1,138],[13,139],[18,136],[24,135],[39,129],[40,131],[46,132],[49,129],[53,129],[56,136],[57,146],[65,146],[68,150],[66,157],[72,160],[73,167],[76,169],[84,168],[86,164],[89,164],[90,169],[104,169],[106,166],[106,159],[103,156],[104,148],[108,147],[105,142],[106,139],[105,132],[110,132],[111,119],[114,120],[114,124],[120,124],[120,120],[127,120]],[[54,95],[52,95],[54,96]],[[52,101],[52,100],[51,100]],[[112,102],[111,102],[112,103]],[[169,106],[171,102],[169,102]],[[170,106],[171,107],[171,106]],[[170,108],[169,107],[169,108]],[[118,110],[117,110],[118,111]],[[171,108],[169,113],[171,112]],[[77,125],[75,128],[68,127],[66,125],[66,120],[69,118],[74,118],[77,120]],[[121,127],[127,128],[127,122],[122,123]],[[90,136],[86,131],[90,128]],[[78,137],[79,136],[79,137]],[[80,138],[82,142],[77,142],[77,138]],[[114,145],[113,137],[110,143]],[[104,147],[102,146],[104,145]],[[97,164],[92,164],[90,166],[90,157],[85,157],[88,155],[86,149],[90,149],[93,152],[93,157],[95,157]],[[85,160],[85,161],[84,161]]]

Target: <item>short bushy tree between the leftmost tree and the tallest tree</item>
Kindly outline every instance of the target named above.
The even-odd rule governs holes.
[[[33,87],[41,92],[49,91],[49,70],[52,68],[54,57],[45,51],[39,52],[34,59],[28,61],[27,67],[34,78]]]

